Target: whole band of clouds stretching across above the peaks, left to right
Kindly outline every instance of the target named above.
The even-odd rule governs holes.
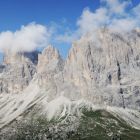
[[[50,42],[72,43],[87,33],[92,33],[94,35],[92,38],[97,40],[96,30],[103,27],[116,32],[128,32],[140,27],[140,4],[133,6],[131,0],[100,0],[100,2],[100,7],[95,11],[88,7],[83,10],[76,21],[76,30],[63,25],[59,27],[58,23],[49,28],[30,23],[15,32],[1,32],[0,51],[30,52],[46,47]],[[60,34],[61,28],[63,34]]]

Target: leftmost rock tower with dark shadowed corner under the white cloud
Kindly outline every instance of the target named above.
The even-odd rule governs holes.
[[[29,57],[30,56],[30,57]],[[36,52],[5,53],[0,73],[0,93],[20,93],[36,73]]]

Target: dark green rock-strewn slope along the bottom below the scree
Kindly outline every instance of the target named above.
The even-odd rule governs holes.
[[[140,130],[104,110],[83,109],[80,119],[71,117],[51,121],[33,117],[18,122],[6,140],[140,140]]]

